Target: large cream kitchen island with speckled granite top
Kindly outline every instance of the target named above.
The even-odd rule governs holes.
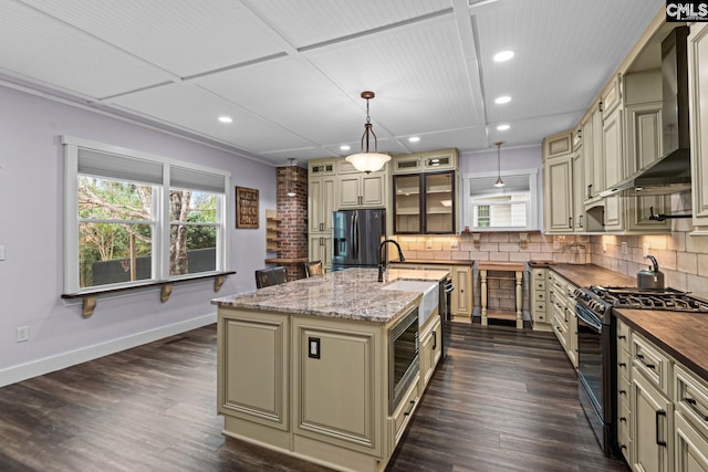
[[[419,367],[394,395],[392,334],[430,292],[389,289],[447,276],[393,269],[379,283],[376,269],[350,269],[215,298],[223,433],[339,470],[384,470],[440,358],[441,336],[436,306],[418,328]]]

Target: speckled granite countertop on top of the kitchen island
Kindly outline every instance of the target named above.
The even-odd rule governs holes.
[[[381,283],[377,282],[377,269],[347,269],[214,298],[211,304],[385,324],[419,304],[423,295],[420,292],[383,290],[383,286],[396,280],[439,282],[448,275],[445,270],[388,269]]]

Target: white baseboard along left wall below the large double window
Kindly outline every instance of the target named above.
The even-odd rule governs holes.
[[[142,346],[143,344],[163,339],[168,336],[175,336],[216,322],[217,314],[215,312],[171,325],[160,326],[143,333],[136,333],[131,336],[82,347],[81,349],[71,350],[56,356],[8,367],[7,369],[0,370],[0,387],[53,373],[55,370],[65,369],[66,367],[97,359],[98,357],[107,356],[110,354],[119,353],[121,350],[129,349],[132,347]]]

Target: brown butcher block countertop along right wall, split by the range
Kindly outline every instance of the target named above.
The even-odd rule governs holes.
[[[593,264],[535,264],[545,266],[577,286],[636,286],[636,279]],[[707,300],[705,293],[691,294]],[[669,356],[708,381],[708,313],[614,308],[613,313]]]

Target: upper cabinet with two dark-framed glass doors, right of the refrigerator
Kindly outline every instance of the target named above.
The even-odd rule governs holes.
[[[394,156],[395,234],[450,234],[457,231],[456,167],[456,149]]]

